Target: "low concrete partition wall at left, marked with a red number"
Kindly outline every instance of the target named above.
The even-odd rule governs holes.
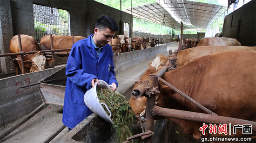
[[[0,79],[0,125],[23,117],[42,104],[37,85],[26,88],[20,86],[39,83],[63,67]]]

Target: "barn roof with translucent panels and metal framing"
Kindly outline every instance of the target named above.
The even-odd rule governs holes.
[[[227,7],[186,0],[159,0],[157,3],[123,9],[135,18],[163,24],[171,28],[207,29],[207,26],[218,19]]]

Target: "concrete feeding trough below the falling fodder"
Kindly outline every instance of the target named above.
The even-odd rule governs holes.
[[[153,143],[168,143],[167,128],[171,126],[170,123],[168,120],[155,121]],[[145,123],[142,123],[142,126],[145,128]],[[132,127],[133,135],[142,133],[140,124],[132,123]],[[115,143],[115,133],[112,124],[92,114],[70,130],[58,143]],[[141,138],[136,141],[144,143]]]

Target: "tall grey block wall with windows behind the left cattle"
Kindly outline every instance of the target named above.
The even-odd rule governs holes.
[[[35,37],[33,4],[57,7],[70,14],[70,31],[74,36],[88,37],[94,32],[97,18],[101,14],[113,17],[123,33],[123,23],[129,24],[130,34],[133,16],[108,7],[94,0],[0,0],[0,53],[9,53],[9,42],[16,34]],[[64,59],[65,61],[66,59]],[[0,58],[1,74],[15,72],[11,58]],[[57,65],[57,64],[55,64]]]

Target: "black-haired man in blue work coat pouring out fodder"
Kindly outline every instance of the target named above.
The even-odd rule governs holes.
[[[108,42],[118,31],[116,21],[101,15],[96,21],[94,34],[74,43],[67,59],[67,84],[62,122],[73,129],[93,112],[84,103],[84,94],[94,87],[99,79],[112,84],[113,91],[118,83],[115,78],[112,47]]]

